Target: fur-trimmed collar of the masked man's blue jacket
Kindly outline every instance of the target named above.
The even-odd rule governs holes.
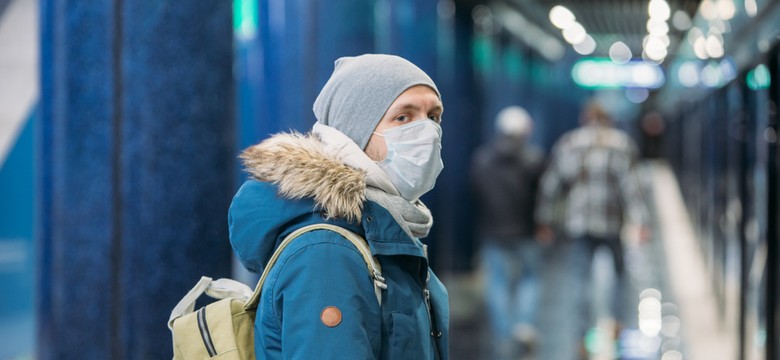
[[[301,209],[312,215],[301,214],[295,228],[322,221],[323,214],[325,221],[364,236],[374,255],[425,257],[422,243],[408,236],[387,209],[366,201],[366,171],[345,164],[316,136],[277,134],[240,158],[253,178],[275,185],[280,201],[313,202],[313,208]]]

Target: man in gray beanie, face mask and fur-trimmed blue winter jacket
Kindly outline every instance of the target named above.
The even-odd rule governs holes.
[[[448,358],[447,292],[420,241],[433,220],[419,200],[443,167],[442,111],[436,85],[409,61],[340,58],[310,134],[277,134],[241,154],[252,178],[229,225],[244,266],[262,272],[285,236],[328,223],[365,239],[386,285],[375,288],[341,234],[304,233],[263,285],[258,359]]]

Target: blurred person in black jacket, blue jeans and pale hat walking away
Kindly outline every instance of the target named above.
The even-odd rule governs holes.
[[[497,137],[472,158],[493,359],[530,357],[537,347],[542,247],[534,239],[534,208],[543,154],[528,142],[532,125],[519,106],[501,110]]]

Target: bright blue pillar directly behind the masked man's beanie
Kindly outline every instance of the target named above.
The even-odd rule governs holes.
[[[251,1],[251,0],[242,0]],[[242,146],[314,124],[312,104],[341,56],[374,51],[374,4],[365,0],[257,0],[257,38],[242,98]],[[240,60],[243,62],[243,60]]]

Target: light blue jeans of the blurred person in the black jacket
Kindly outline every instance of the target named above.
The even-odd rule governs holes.
[[[504,354],[498,357],[511,356],[517,342],[513,330],[536,325],[542,247],[534,239],[516,239],[511,245],[487,240],[481,250],[491,338]]]

